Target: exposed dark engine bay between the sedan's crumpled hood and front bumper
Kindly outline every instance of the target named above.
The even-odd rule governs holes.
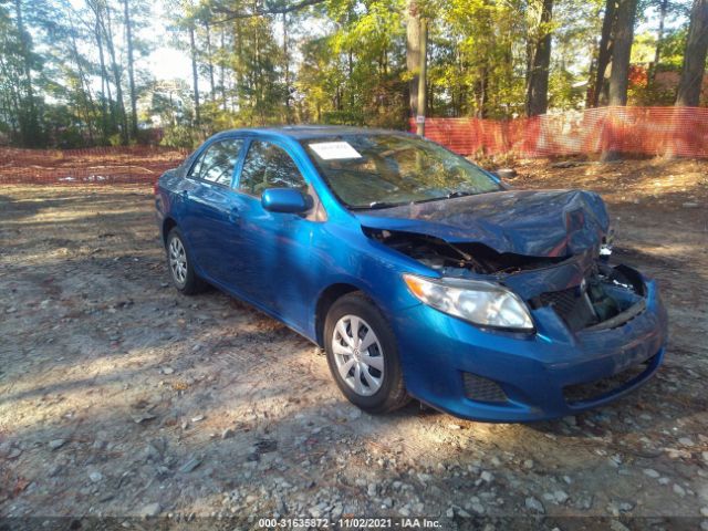
[[[610,246],[604,240],[570,257],[532,257],[498,252],[480,242],[450,242],[379,228],[363,230],[440,277],[497,282],[531,309],[551,308],[572,332],[615,329],[646,308],[642,275],[627,266],[610,266]]]

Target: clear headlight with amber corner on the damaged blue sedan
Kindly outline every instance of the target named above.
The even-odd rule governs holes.
[[[523,301],[501,285],[479,280],[428,279],[404,274],[420,302],[482,326],[533,330]]]

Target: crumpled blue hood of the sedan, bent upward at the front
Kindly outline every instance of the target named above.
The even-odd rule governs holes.
[[[610,221],[583,190],[506,190],[357,214],[363,227],[485,243],[498,252],[566,257],[598,247]]]

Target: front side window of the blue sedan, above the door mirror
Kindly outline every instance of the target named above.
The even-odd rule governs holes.
[[[288,153],[268,142],[253,140],[246,155],[239,189],[260,197],[267,188],[308,189],[295,162]]]

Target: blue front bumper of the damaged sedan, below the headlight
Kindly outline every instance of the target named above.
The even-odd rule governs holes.
[[[437,409],[486,421],[544,420],[605,405],[650,378],[664,357],[666,310],[656,283],[645,284],[644,311],[611,330],[573,333],[548,306],[532,310],[533,334],[485,331],[425,304],[397,312],[406,387]],[[584,384],[606,378],[614,381],[577,398]],[[478,395],[470,382],[482,384]]]

